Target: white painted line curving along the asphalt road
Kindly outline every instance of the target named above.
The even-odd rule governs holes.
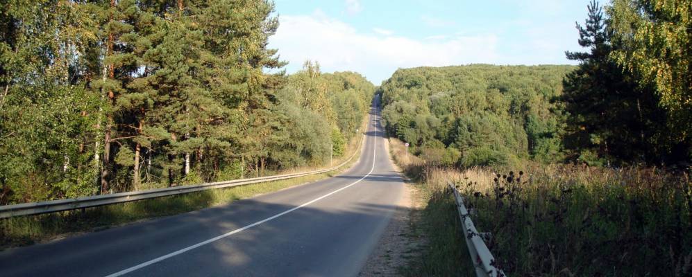
[[[274,220],[274,219],[276,219],[276,218],[278,218],[278,217],[281,217],[282,215],[286,215],[287,213],[291,213],[292,211],[296,211],[296,210],[298,210],[299,208],[303,208],[303,207],[305,207],[305,206],[307,206],[307,205],[310,205],[310,204],[312,204],[312,203],[314,203],[314,202],[317,202],[317,201],[319,201],[319,200],[321,200],[321,199],[323,199],[323,198],[325,198],[325,197],[328,197],[328,196],[330,196],[330,195],[333,195],[333,194],[335,194],[335,193],[338,193],[338,192],[341,191],[341,190],[345,190],[345,189],[348,188],[348,187],[351,187],[351,186],[353,186],[353,185],[355,185],[355,184],[358,184],[360,181],[363,181],[363,179],[365,179],[366,177],[370,176],[370,175],[373,173],[373,171],[375,170],[375,154],[376,154],[375,150],[377,149],[377,134],[378,134],[378,127],[379,127],[379,126],[378,126],[378,113],[379,113],[379,111],[378,111],[378,98],[377,98],[377,96],[375,96],[375,136],[373,137],[373,138],[374,138],[373,140],[374,140],[375,142],[373,142],[373,166],[372,166],[372,168],[370,169],[370,172],[368,172],[368,174],[366,174],[366,175],[363,176],[362,178],[358,179],[357,181],[354,181],[354,182],[351,183],[351,184],[348,184],[347,186],[344,186],[343,188],[339,188],[338,190],[334,190],[334,191],[332,191],[331,193],[327,193],[326,195],[322,195],[321,197],[317,197],[317,198],[315,198],[315,199],[312,199],[312,200],[310,200],[309,202],[305,202],[305,203],[301,204],[301,206],[297,206],[297,207],[295,207],[295,208],[291,208],[291,209],[289,209],[289,210],[287,210],[287,211],[283,211],[282,213],[278,213],[278,214],[273,215],[273,216],[271,216],[271,217],[267,217],[267,218],[265,218],[264,220],[260,220],[260,221],[258,221],[258,222],[253,223],[253,224],[244,226],[244,227],[242,227],[242,228],[240,228],[240,229],[235,229],[235,230],[230,231],[230,232],[228,232],[228,233],[225,233],[225,234],[223,234],[223,235],[219,235],[219,236],[217,236],[217,237],[210,238],[209,240],[205,240],[205,241],[203,241],[203,242],[199,242],[199,243],[194,244],[194,245],[191,245],[191,246],[189,246],[189,247],[185,247],[185,248],[180,249],[180,250],[178,250],[178,251],[168,253],[168,254],[166,254],[166,255],[164,255],[164,256],[160,256],[159,258],[155,258],[155,259],[149,260],[149,261],[147,261],[147,262],[142,262],[141,264],[135,265],[134,267],[129,267],[129,268],[127,268],[127,269],[123,269],[123,270],[121,270],[121,271],[117,271],[116,273],[110,274],[110,275],[108,275],[108,276],[106,276],[106,277],[123,276],[123,275],[128,274],[128,273],[130,273],[130,272],[132,272],[132,271],[135,271],[135,270],[137,270],[137,269],[141,269],[142,267],[147,267],[147,266],[149,266],[149,265],[153,265],[153,264],[155,264],[156,262],[160,262],[160,261],[162,261],[162,260],[166,260],[167,258],[171,258],[171,257],[174,257],[174,256],[178,256],[178,255],[180,255],[180,254],[182,254],[182,253],[185,253],[185,252],[190,251],[190,250],[192,250],[192,249],[196,249],[197,247],[201,247],[201,246],[203,246],[203,245],[205,245],[205,244],[210,244],[210,243],[215,242],[215,241],[217,241],[217,240],[221,240],[222,238],[226,238],[226,237],[228,237],[229,235],[233,235],[233,234],[235,234],[235,233],[240,233],[240,232],[245,231],[245,230],[247,230],[247,229],[251,229],[251,228],[254,227],[254,226],[258,226],[258,225],[260,225],[260,224],[262,224],[262,223],[264,223],[264,222],[268,222],[268,221],[270,221],[270,220]]]

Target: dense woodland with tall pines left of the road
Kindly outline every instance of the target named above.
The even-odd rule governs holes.
[[[313,62],[282,73],[272,12],[264,0],[0,3],[0,204],[342,154],[375,87]]]

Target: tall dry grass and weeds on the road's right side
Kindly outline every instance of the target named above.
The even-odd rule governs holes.
[[[408,276],[473,276],[449,182],[512,276],[692,276],[692,184],[685,172],[526,163],[523,171],[426,166],[391,140],[427,205],[412,217],[429,243]],[[403,158],[401,158],[403,157]],[[498,169],[499,170],[499,169]],[[426,201],[423,200],[423,201]]]

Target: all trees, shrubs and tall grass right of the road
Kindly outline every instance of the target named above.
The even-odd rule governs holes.
[[[512,276],[692,274],[689,10],[592,2],[577,25],[587,51],[566,53],[578,66],[421,67],[385,81],[394,159],[428,197],[413,218],[429,244],[403,272],[473,275],[455,184]]]

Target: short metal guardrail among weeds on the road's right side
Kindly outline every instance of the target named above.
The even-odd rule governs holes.
[[[505,272],[498,269],[495,265],[495,258],[493,254],[490,253],[485,241],[482,238],[482,234],[478,233],[475,229],[471,217],[469,216],[469,211],[466,210],[464,206],[464,197],[459,194],[459,190],[453,185],[449,184],[449,187],[454,192],[454,198],[457,202],[457,211],[459,212],[459,220],[462,221],[462,229],[464,230],[464,239],[466,240],[466,247],[469,248],[469,254],[471,255],[471,260],[475,267],[475,274],[478,277],[506,277]]]

